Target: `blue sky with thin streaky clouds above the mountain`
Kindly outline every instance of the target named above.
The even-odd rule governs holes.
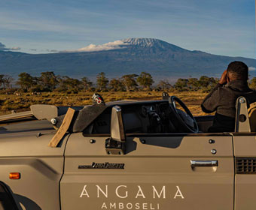
[[[254,0],[0,0],[0,43],[20,52],[45,53],[153,37],[185,49],[256,58],[254,4]]]

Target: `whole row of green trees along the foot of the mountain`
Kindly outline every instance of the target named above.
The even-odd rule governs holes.
[[[209,92],[216,84],[218,79],[214,77],[202,76],[198,78],[179,78],[174,85],[168,80],[160,80],[154,85],[151,74],[142,72],[141,74],[126,74],[120,78],[109,80],[104,72],[97,74],[96,83],[88,77],[80,80],[67,76],[55,75],[53,71],[41,72],[40,77],[32,77],[30,74],[20,73],[17,80],[13,77],[0,74],[0,89],[2,92],[134,92],[134,91],[203,91]],[[13,84],[16,86],[13,87]],[[250,81],[252,89],[256,89],[256,77]],[[17,88],[18,87],[18,88]]]

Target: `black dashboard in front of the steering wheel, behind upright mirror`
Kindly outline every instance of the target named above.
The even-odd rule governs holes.
[[[172,113],[168,101],[147,101],[117,104],[121,107],[126,133],[172,133]],[[98,116],[84,133],[110,133],[111,108]]]

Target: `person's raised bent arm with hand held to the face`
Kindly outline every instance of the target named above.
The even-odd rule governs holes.
[[[223,72],[223,74],[221,75],[221,80],[214,87],[214,89],[212,89],[212,92],[210,92],[209,95],[207,95],[206,98],[203,100],[203,103],[201,104],[201,108],[204,113],[213,113],[216,111],[218,107],[218,102],[221,98],[218,88],[224,86],[224,84],[226,83],[227,83],[227,70]]]

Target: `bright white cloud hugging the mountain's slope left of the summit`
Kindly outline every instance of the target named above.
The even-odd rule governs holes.
[[[108,42],[102,45],[96,45],[91,43],[89,46],[85,46],[80,49],[72,49],[72,50],[67,49],[61,52],[96,52],[96,51],[104,51],[104,50],[111,50],[111,49],[122,49],[129,44],[130,43],[123,42],[123,40],[115,40],[114,42]]]

